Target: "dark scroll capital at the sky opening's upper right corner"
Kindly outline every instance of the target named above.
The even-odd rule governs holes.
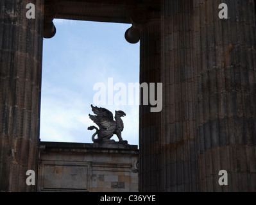
[[[160,12],[151,7],[135,8],[130,13],[130,20],[132,26],[126,30],[124,38],[130,44],[137,44],[141,38],[142,29],[153,24],[160,24]]]

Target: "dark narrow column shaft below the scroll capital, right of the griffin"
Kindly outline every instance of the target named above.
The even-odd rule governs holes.
[[[141,30],[140,83],[160,81],[160,18],[149,19]],[[143,95],[141,93],[141,99]],[[141,101],[139,119],[139,191],[160,191],[160,112],[151,112],[151,105]]]

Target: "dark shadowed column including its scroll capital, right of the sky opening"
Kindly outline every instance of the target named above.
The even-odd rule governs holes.
[[[140,84],[146,83],[148,90],[141,88],[141,104],[139,111],[139,191],[160,191],[160,112],[153,112],[149,102],[149,84],[155,83],[155,99],[157,99],[157,83],[160,79],[160,11],[136,9],[131,12],[132,27],[125,33],[128,42],[140,44]],[[148,98],[143,100],[145,92]]]

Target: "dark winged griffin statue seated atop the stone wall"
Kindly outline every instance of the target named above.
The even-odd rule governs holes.
[[[89,130],[96,129],[96,133],[92,135],[93,142],[115,142],[115,140],[110,140],[115,134],[119,138],[119,142],[124,142],[121,132],[124,129],[123,120],[121,117],[124,117],[126,114],[124,111],[115,111],[115,120],[113,119],[113,114],[111,111],[105,108],[98,108],[97,106],[92,106],[92,111],[96,115],[90,115],[90,119],[95,122],[98,126],[90,126]],[[95,136],[98,135],[98,138]],[[126,141],[127,142],[127,141]]]

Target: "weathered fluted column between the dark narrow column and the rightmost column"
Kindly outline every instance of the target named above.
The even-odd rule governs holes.
[[[162,191],[198,191],[193,1],[162,1]]]

